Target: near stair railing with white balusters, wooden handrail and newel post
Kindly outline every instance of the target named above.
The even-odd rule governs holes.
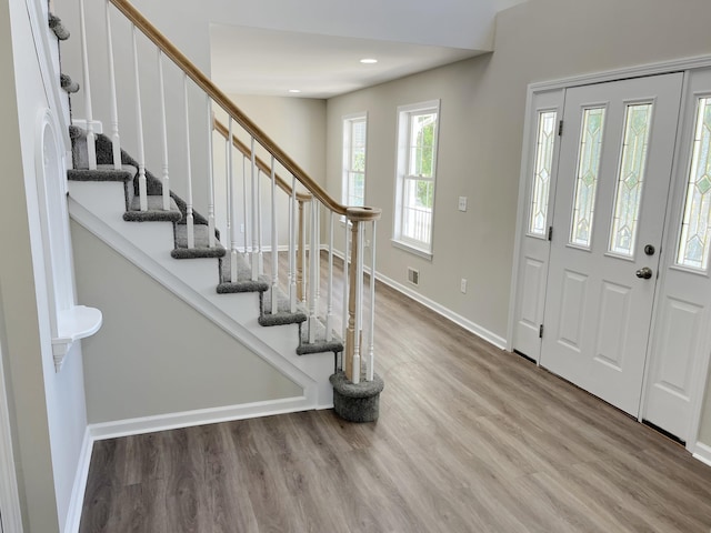
[[[263,225],[268,223],[270,225],[270,252],[271,252],[271,289],[272,289],[272,308],[266,310],[266,312],[277,313],[280,312],[276,298],[276,291],[279,283],[279,221],[278,213],[279,201],[277,199],[277,189],[286,192],[288,195],[288,253],[289,253],[289,274],[288,274],[288,289],[289,296],[289,311],[294,312],[299,305],[302,305],[307,310],[307,333],[308,342],[313,342],[316,339],[316,330],[318,319],[321,316],[326,322],[327,340],[331,340],[331,332],[336,326],[334,321],[337,313],[333,311],[334,301],[334,276],[333,276],[333,255],[334,255],[334,221],[338,218],[343,217],[347,220],[344,237],[344,268],[341,285],[343,288],[343,320],[342,332],[344,340],[344,356],[341,360],[341,368],[344,371],[347,378],[353,383],[359,383],[361,380],[372,381],[373,379],[373,352],[374,352],[374,281],[370,280],[370,294],[368,301],[370,302],[368,309],[365,309],[363,300],[364,288],[364,239],[363,234],[369,230],[371,235],[370,250],[371,250],[371,273],[374,272],[374,250],[375,250],[375,221],[381,215],[381,210],[378,208],[348,208],[333,200],[328,192],[307,172],[301,169],[279,145],[277,145],[254,122],[252,122],[212,81],[204,76],[178,48],[171,43],[158,29],[149,22],[149,20],[140,13],[130,2],[127,0],[104,0],[106,1],[106,31],[103,34],[107,38],[107,53],[109,54],[107,64],[109,68],[108,79],[110,87],[106,91],[110,98],[109,123],[111,124],[111,141],[112,141],[112,162],[114,167],[120,167],[120,134],[119,134],[119,113],[118,101],[119,88],[117,87],[116,73],[114,73],[114,56],[113,49],[116,48],[112,40],[116,38],[111,31],[111,6],[118,10],[131,26],[131,52],[134,70],[134,93],[130,97],[136,102],[136,123],[137,131],[136,138],[138,142],[138,167],[139,167],[139,205],[140,210],[146,211],[148,207],[148,191],[146,181],[146,161],[144,161],[144,124],[149,123],[146,113],[141,107],[142,95],[149,90],[147,84],[140,82],[140,69],[139,60],[144,54],[138,53],[138,40],[140,34],[148,39],[150,43],[156,47],[156,53],[158,58],[158,77],[159,82],[159,105],[158,105],[158,135],[162,135],[162,164],[161,164],[161,178],[163,201],[161,203],[162,209],[167,210],[170,207],[170,184],[171,178],[169,175],[169,143],[168,137],[170,129],[166,125],[166,117],[168,111],[166,109],[166,83],[163,74],[163,58],[168,58],[178,69],[179,76],[182,77],[182,109],[171,109],[171,114],[183,114],[184,122],[184,147],[186,153],[181,155],[182,160],[178,160],[179,168],[184,167],[187,172],[187,193],[186,193],[186,214],[188,225],[188,247],[196,247],[194,237],[194,220],[197,211],[193,205],[193,183],[192,181],[204,181],[200,183],[198,191],[203,191],[207,198],[207,205],[202,205],[207,209],[208,220],[208,233],[209,242],[207,247],[212,248],[218,245],[214,238],[214,229],[217,225],[218,211],[224,211],[224,224],[228,229],[226,235],[226,248],[231,255],[231,272],[230,280],[237,282],[239,272],[237,269],[238,257],[248,259],[250,264],[250,278],[256,281],[263,275]],[[82,68],[84,72],[84,87],[89,89],[90,76],[89,76],[89,59],[88,59],[88,46],[87,46],[87,29],[84,24],[84,0],[79,0],[80,20],[81,20],[81,40],[82,40]],[[92,19],[93,20],[93,19]],[[142,43],[143,44],[143,43]],[[93,47],[92,47],[93,48]],[[103,74],[101,74],[103,76]],[[196,127],[191,129],[190,124],[190,98],[189,91],[197,87],[204,95],[206,101],[206,119],[209,124],[208,131],[203,131],[199,134],[207,134],[207,145],[209,153],[207,154],[208,168],[206,172],[206,179],[201,180],[202,172],[192,172],[191,165],[191,139],[194,139]],[[151,87],[150,89],[154,89]],[[117,97],[119,94],[119,97]],[[128,98],[127,98],[128,99]],[[88,154],[89,165],[96,167],[96,147],[93,139],[93,117],[91,114],[92,101],[90,90],[86,91],[86,111],[89,113],[87,117],[88,125]],[[194,103],[193,103],[194,107]],[[217,107],[217,111],[227,117],[227,125],[219,121],[213,121],[214,111],[213,107]],[[154,113],[154,109],[151,109],[151,113]],[[154,117],[153,117],[154,119]],[[217,195],[221,190],[216,183],[216,168],[213,165],[213,142],[212,132],[217,131],[226,141],[226,177],[224,177],[224,195],[226,201],[217,202]],[[123,132],[126,133],[126,132]],[[234,151],[237,150],[239,157],[241,157],[241,165],[236,164]],[[176,155],[178,157],[178,155]],[[174,161],[174,158],[173,158]],[[269,161],[269,162],[266,162]],[[238,161],[239,162],[239,161]],[[241,171],[240,171],[241,167]],[[262,179],[264,175],[270,180],[270,198],[267,201],[262,198]],[[291,184],[281,175],[290,175]],[[241,181],[241,183],[240,183]],[[242,200],[242,218],[238,221],[238,197],[240,195],[241,184],[241,200]],[[298,187],[302,187],[308,192],[299,192]],[[224,208],[222,208],[224,205]],[[156,208],[151,208],[156,209]],[[161,208],[158,208],[161,209]],[[263,217],[262,210],[269,210],[269,215]],[[323,224],[328,231],[328,272],[327,272],[327,293],[324,308],[321,305],[322,300],[320,289],[320,250],[321,250],[321,232],[322,221],[321,213],[327,213],[327,221]],[[240,222],[241,221],[241,222]],[[243,233],[240,239],[240,233]],[[307,242],[308,241],[308,242]],[[241,247],[240,247],[241,242]],[[307,268],[307,252],[308,252],[308,274],[304,275],[303,270]],[[304,281],[306,280],[306,281]],[[363,321],[363,315],[367,314],[367,320]]]

